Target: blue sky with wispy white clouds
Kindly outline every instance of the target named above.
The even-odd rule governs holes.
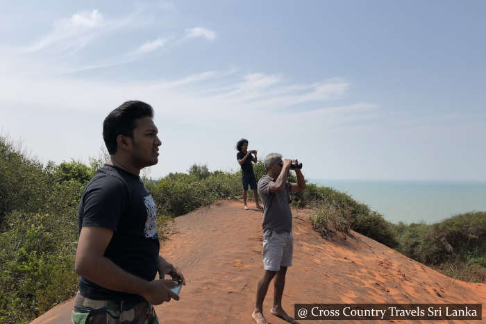
[[[153,105],[157,178],[299,158],[308,178],[486,180],[484,1],[2,3],[0,128],[87,161],[106,114]]]

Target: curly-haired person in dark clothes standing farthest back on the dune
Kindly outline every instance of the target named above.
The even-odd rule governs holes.
[[[262,209],[260,203],[258,201],[258,191],[256,185],[256,177],[255,173],[253,172],[253,164],[257,162],[256,160],[256,153],[257,150],[248,151],[248,140],[247,139],[240,139],[236,144],[236,149],[238,153],[236,153],[236,160],[238,164],[242,167],[242,182],[243,182],[243,203],[244,209],[248,210],[248,205],[246,205],[246,194],[248,193],[248,185],[253,190],[253,196],[255,197],[256,207],[258,209]]]

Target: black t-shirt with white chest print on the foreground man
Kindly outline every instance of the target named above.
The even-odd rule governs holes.
[[[157,207],[139,176],[105,164],[87,184],[78,206],[78,231],[84,226],[113,230],[105,257],[144,280],[157,274]],[[79,278],[81,295],[91,299],[139,300]]]

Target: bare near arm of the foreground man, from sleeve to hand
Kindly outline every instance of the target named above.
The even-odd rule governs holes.
[[[81,228],[74,263],[74,270],[78,275],[106,289],[140,295],[153,305],[168,302],[171,298],[179,299],[167,289],[164,280],[149,282],[124,271],[104,257],[112,236],[113,230],[108,228]]]

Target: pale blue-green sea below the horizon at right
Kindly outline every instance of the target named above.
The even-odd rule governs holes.
[[[486,211],[486,182],[310,179],[345,192],[387,221],[437,223],[465,212]]]

